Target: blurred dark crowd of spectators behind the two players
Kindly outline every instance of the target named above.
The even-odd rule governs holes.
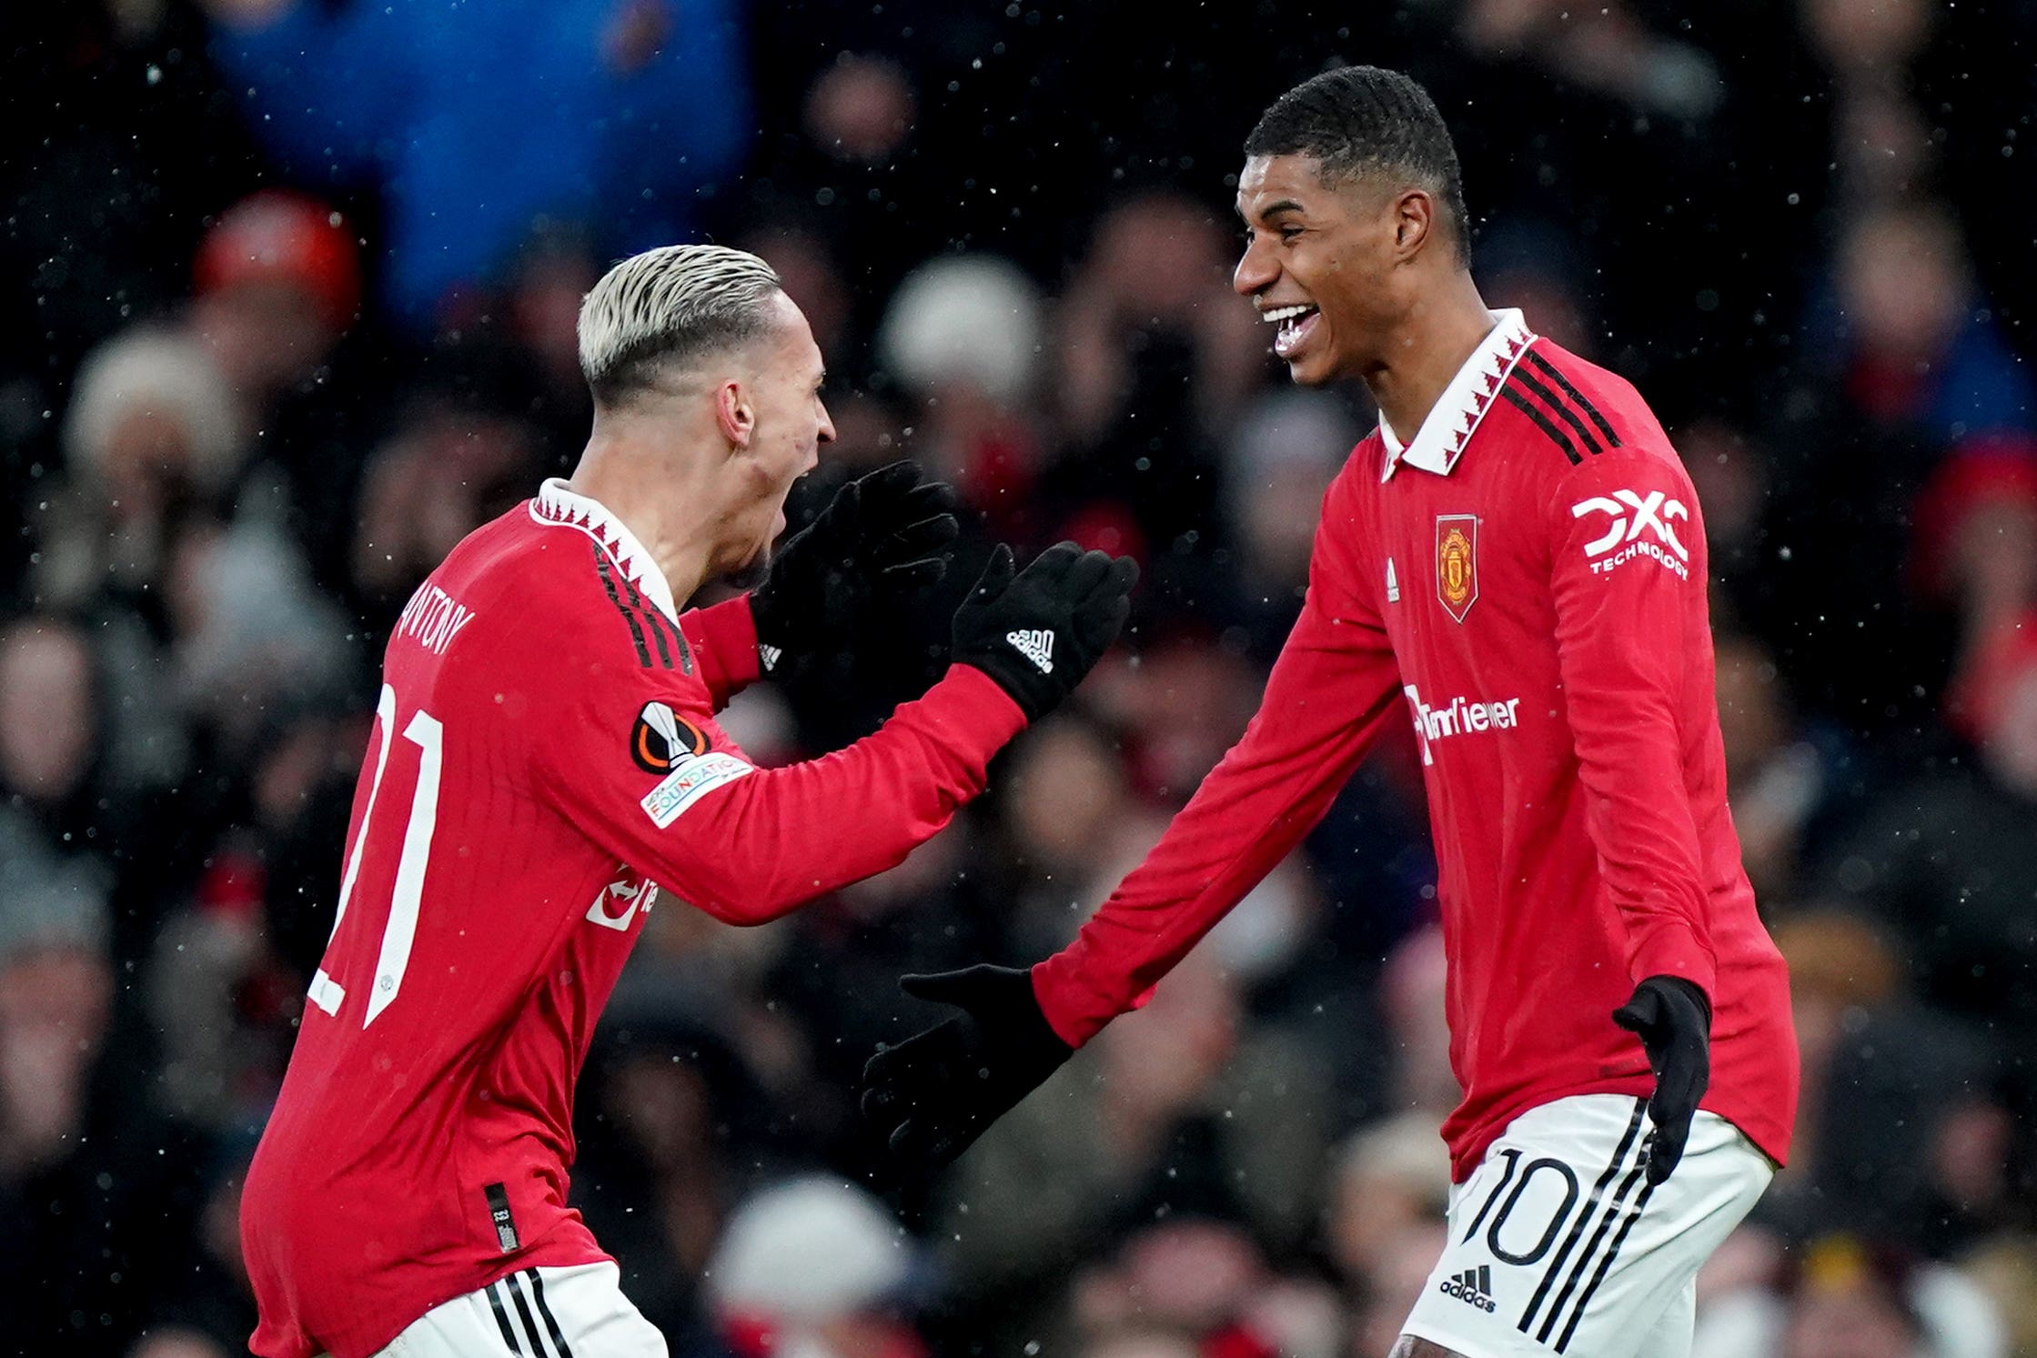
[[[1485,297],[1632,377],[1705,503],[1805,1099],[1701,1356],[2037,1354],[2027,8],[79,0],[0,59],[0,1350],[242,1352],[383,639],[572,464],[583,291],[715,238],[835,373],[794,525],[900,456],[968,507],[947,597],[729,711],[754,755],[915,696],[998,540],[1147,582],[902,867],[648,916],[572,1183],[627,1293],[674,1358],[1385,1354],[1456,1097],[1406,733],[939,1181],[854,1114],[935,1016],[896,977],[1059,947],[1257,702],[1371,411],[1271,362],[1228,204],[1344,59],[1430,86]]]

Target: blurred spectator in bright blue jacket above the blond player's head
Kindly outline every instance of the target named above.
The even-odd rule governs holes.
[[[381,191],[383,295],[411,328],[499,283],[538,222],[585,226],[609,257],[686,238],[748,140],[725,0],[206,10],[267,151],[304,183]]]

